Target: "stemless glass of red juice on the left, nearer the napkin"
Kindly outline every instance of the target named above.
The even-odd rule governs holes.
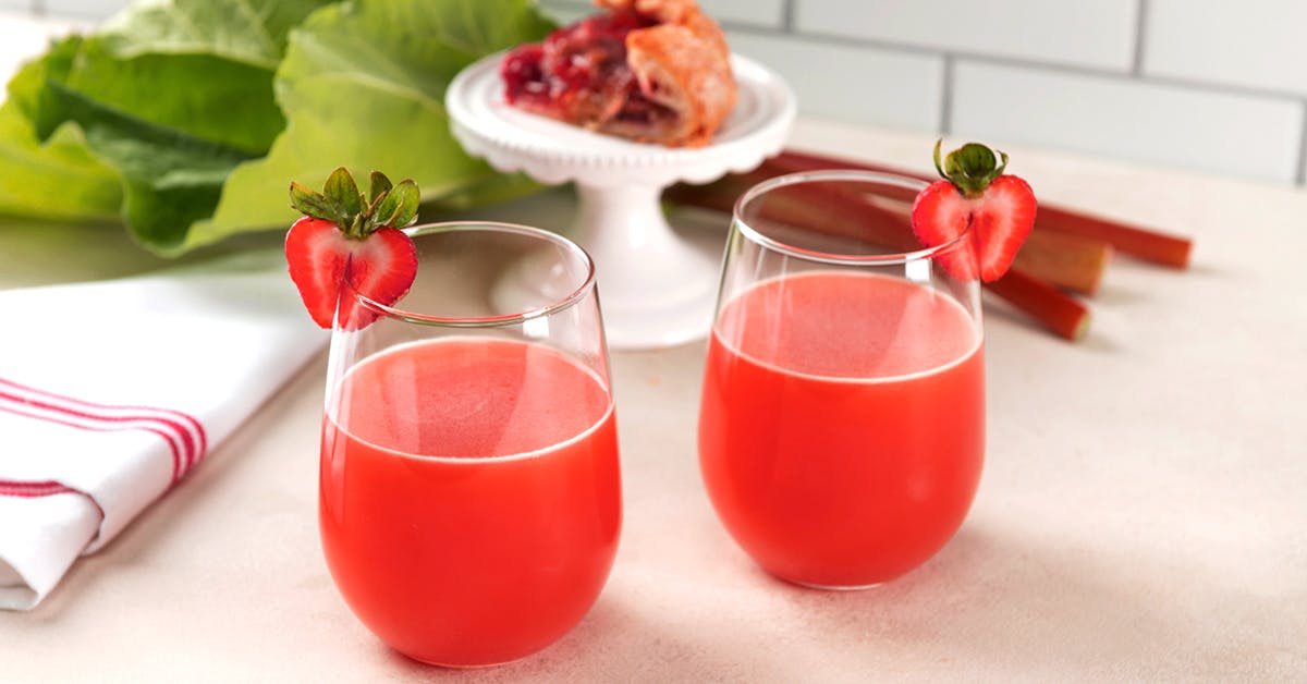
[[[575,626],[617,552],[595,269],[580,247],[533,228],[409,234],[409,294],[382,306],[346,292],[337,306],[323,552],[354,615],[393,649],[433,664],[505,663]]]

